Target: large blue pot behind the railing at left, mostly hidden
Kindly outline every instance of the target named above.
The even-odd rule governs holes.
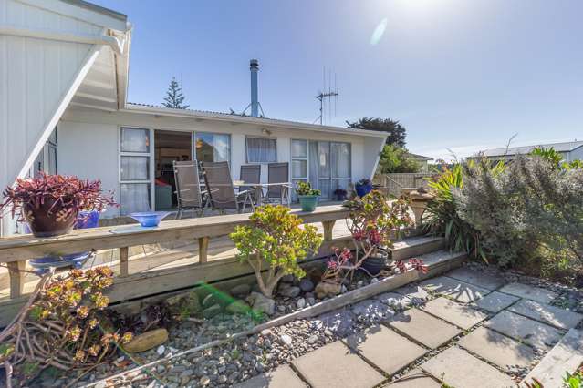
[[[75,223],[74,229],[88,229],[97,228],[99,226],[99,211],[79,211],[77,216],[77,221]],[[30,232],[28,225],[25,225],[26,232]],[[45,256],[42,258],[37,258],[29,260],[31,267],[38,275],[42,275],[47,272],[49,268],[65,268],[65,267],[75,267],[81,268],[85,261],[91,256],[91,252],[78,252],[71,253],[63,256]]]

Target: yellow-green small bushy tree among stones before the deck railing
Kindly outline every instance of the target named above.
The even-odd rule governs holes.
[[[306,274],[297,261],[316,252],[322,236],[315,226],[300,228],[302,220],[280,205],[256,208],[249,220],[251,226],[235,228],[231,239],[239,250],[237,258],[253,268],[259,290],[271,298],[277,282],[285,275],[301,278]]]

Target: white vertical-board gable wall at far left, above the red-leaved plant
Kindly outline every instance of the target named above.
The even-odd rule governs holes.
[[[0,0],[0,26],[47,28],[75,34],[101,33],[84,23],[16,0]],[[0,35],[0,188],[26,175],[59,107],[67,105],[79,72],[96,56],[96,47],[23,36]],[[51,128],[52,129],[52,128]],[[12,229],[4,220],[3,234]]]

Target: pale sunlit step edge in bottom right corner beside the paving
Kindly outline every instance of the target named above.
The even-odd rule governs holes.
[[[563,386],[563,377],[566,373],[574,373],[583,363],[583,331],[570,329],[541,362],[535,366],[520,383],[533,383],[536,379],[544,387]]]

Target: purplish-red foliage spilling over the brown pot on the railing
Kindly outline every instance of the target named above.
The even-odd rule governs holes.
[[[16,179],[14,187],[7,187],[4,191],[5,200],[0,203],[0,217],[5,209],[11,208],[14,218],[18,213],[18,221],[25,220],[24,208],[31,205],[38,209],[46,200],[55,199],[49,211],[68,209],[71,211],[97,210],[107,206],[117,206],[113,193],[104,194],[101,181],[78,179],[75,176],[48,175],[40,173],[32,179]]]

